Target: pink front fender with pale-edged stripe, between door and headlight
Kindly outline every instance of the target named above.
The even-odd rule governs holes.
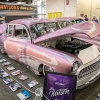
[[[26,47],[26,57],[30,60],[35,60],[36,62],[53,67],[55,71],[60,73],[70,73],[72,64],[75,61],[74,58],[72,62],[69,62],[62,53],[34,44]]]

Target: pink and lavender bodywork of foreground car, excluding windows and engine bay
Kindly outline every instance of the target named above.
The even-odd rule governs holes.
[[[30,25],[37,22],[32,22],[31,19],[21,19],[12,21],[8,24],[0,25],[1,50],[4,49],[4,52],[6,52],[9,57],[22,62],[36,74],[41,74],[44,71],[45,66],[49,67],[48,71],[55,71],[65,74],[69,73],[79,76],[80,72],[84,68],[87,68],[87,66],[90,66],[93,63],[99,61],[100,55],[84,65],[82,60],[73,54],[37,45],[41,42],[46,42],[52,39],[72,35],[74,38],[86,41],[92,45],[95,45],[99,49],[100,26],[95,22],[82,22],[57,30],[53,33],[43,35],[38,38],[31,37],[29,30],[27,30],[27,34],[30,35],[30,38],[27,39],[17,38],[16,36],[14,36],[14,34],[12,34],[12,36],[8,36],[7,34],[9,30],[5,30],[7,26],[11,24],[20,24],[29,28]],[[78,70],[73,73],[72,67],[74,62],[76,61],[80,63],[80,66]],[[93,73],[90,73],[86,77],[83,77],[82,79],[78,77],[77,88],[82,88],[84,85],[91,83],[92,81],[96,80],[99,75],[100,67],[98,67],[97,70],[95,70]]]

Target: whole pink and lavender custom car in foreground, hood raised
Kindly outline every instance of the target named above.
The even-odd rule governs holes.
[[[99,77],[100,26],[97,23],[82,22],[40,36],[36,32],[38,22],[21,19],[0,25],[1,50],[35,74],[54,71],[77,75],[78,89]]]

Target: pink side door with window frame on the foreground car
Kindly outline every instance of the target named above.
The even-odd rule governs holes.
[[[30,35],[24,25],[8,25],[5,48],[9,57],[21,61],[21,58],[25,58],[25,47],[29,43],[31,43]]]

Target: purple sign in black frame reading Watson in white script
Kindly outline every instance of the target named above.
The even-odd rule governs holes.
[[[76,75],[47,72],[44,95],[49,100],[75,100]],[[43,100],[47,100],[45,97]]]

